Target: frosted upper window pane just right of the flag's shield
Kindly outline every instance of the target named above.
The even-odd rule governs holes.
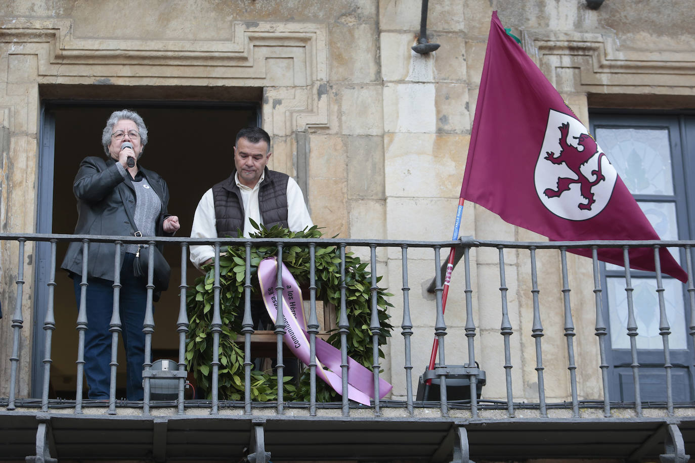
[[[632,194],[673,194],[666,128],[596,128],[596,141]]]

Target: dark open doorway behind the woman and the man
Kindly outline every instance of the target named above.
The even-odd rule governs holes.
[[[260,99],[259,99],[260,102]],[[105,155],[101,131],[114,110],[136,110],[145,120],[149,142],[142,166],[160,174],[170,190],[169,213],[179,216],[177,236],[190,236],[193,214],[204,192],[229,176],[232,167],[234,135],[245,126],[260,122],[260,103],[163,103],[163,102],[61,102],[44,101],[42,153],[40,162],[39,233],[73,233],[77,220],[72,182],[79,163],[88,155]],[[50,158],[52,155],[52,160]],[[51,170],[52,173],[47,171]],[[50,229],[48,229],[50,228]],[[37,258],[48,250],[42,246]],[[54,311],[56,330],[51,342],[51,398],[74,398],[76,388],[77,308],[72,281],[60,270],[67,244],[58,244]],[[181,250],[165,246],[165,257],[172,266],[170,289],[155,304],[155,331],[152,358],[178,360],[179,340],[176,322],[179,314],[178,282]],[[44,258],[45,260],[45,258]],[[35,344],[33,396],[40,396],[43,376],[43,320],[47,297],[47,275],[40,266],[35,304]],[[199,272],[190,262],[188,285]],[[122,342],[120,342],[122,344]],[[125,396],[125,355],[118,354],[117,397]]]

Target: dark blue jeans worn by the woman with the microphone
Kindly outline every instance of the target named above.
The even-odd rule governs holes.
[[[133,275],[133,258],[126,253],[121,267],[120,318],[126,351],[126,394],[129,401],[142,401],[142,364],[145,363],[145,321],[147,288]],[[81,276],[73,278],[77,307],[80,304]],[[85,376],[88,398],[108,399],[111,381],[111,332],[113,281],[88,278],[87,331],[85,331]]]

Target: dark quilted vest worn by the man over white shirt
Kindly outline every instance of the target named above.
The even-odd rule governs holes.
[[[259,210],[263,225],[270,228],[287,222],[287,181],[289,176],[265,167],[265,178],[259,187]],[[244,230],[244,208],[234,172],[227,180],[213,186],[215,201],[215,227],[218,237],[237,237],[237,230]]]

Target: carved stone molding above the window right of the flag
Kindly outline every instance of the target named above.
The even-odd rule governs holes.
[[[695,94],[695,51],[622,47],[614,35],[523,31],[522,44],[560,92]]]

